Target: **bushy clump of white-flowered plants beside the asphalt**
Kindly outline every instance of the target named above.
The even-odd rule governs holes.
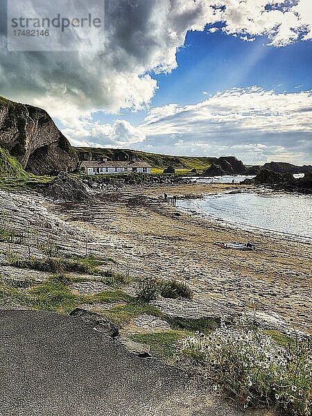
[[[248,321],[223,325],[180,340],[177,358],[200,363],[204,379],[244,408],[271,406],[283,415],[311,415],[312,340],[283,338],[280,345]]]

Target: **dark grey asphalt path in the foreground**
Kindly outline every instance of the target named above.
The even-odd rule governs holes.
[[[1,416],[236,416],[182,370],[139,358],[79,318],[0,311]]]

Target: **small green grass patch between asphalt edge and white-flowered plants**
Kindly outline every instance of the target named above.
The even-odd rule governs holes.
[[[128,336],[136,343],[150,345],[150,353],[166,361],[172,361],[175,355],[176,343],[182,338],[191,335],[189,331],[166,331],[155,333],[136,333]]]

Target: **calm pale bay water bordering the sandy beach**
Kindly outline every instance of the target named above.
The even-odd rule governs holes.
[[[179,200],[178,206],[210,220],[243,229],[258,229],[312,243],[312,196],[291,193],[218,193]]]

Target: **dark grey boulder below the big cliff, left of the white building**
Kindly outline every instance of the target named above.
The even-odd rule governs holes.
[[[62,172],[49,187],[44,190],[45,196],[59,201],[81,201],[91,198],[92,193],[89,187],[81,180],[73,179],[68,173]]]

